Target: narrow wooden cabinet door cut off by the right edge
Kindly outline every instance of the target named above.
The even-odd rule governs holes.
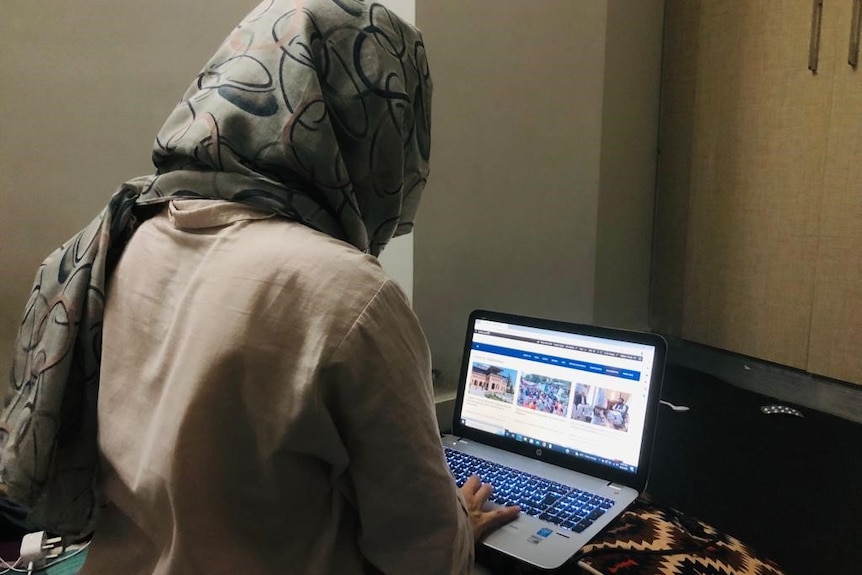
[[[862,69],[847,64],[852,2],[828,8],[840,25],[808,370],[862,384]]]

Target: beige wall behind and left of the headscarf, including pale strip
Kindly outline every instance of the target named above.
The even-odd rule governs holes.
[[[0,18],[0,371],[39,263],[115,187],[152,172],[153,139],[258,0],[4,0]],[[384,2],[405,19],[414,0]],[[385,265],[412,289],[412,240]]]

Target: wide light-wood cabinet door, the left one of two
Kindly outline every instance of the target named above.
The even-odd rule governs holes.
[[[810,2],[700,9],[683,337],[804,368],[831,58],[808,70]]]

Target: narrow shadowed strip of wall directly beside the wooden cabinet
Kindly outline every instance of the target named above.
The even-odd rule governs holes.
[[[593,321],[632,329],[649,326],[663,23],[664,0],[608,2]]]

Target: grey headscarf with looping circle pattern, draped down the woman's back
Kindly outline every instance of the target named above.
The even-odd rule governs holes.
[[[242,202],[377,255],[413,227],[430,100],[419,32],[382,5],[266,0],[246,16],[159,131],[156,173],[37,272],[0,419],[0,489],[33,527],[93,527],[105,284],[147,206]]]

